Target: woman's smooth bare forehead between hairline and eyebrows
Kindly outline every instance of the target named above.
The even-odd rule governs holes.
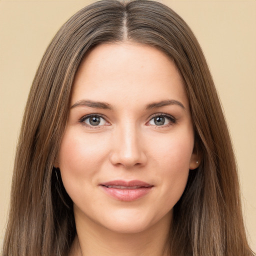
[[[188,106],[173,61],[154,47],[132,42],[100,44],[83,58],[75,75],[71,104],[84,98],[129,104],[176,99]]]

